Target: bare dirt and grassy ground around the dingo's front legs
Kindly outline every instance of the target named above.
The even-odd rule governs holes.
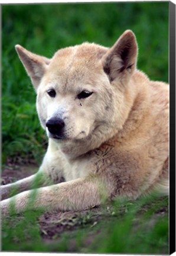
[[[34,174],[37,169],[37,165],[32,162],[25,164],[23,162],[18,164],[7,162],[2,172],[1,184],[12,183],[15,180],[27,177]],[[139,207],[138,215],[135,216],[130,215],[130,209],[133,210],[133,206],[135,206],[133,201],[122,204],[118,208],[114,204],[107,203],[103,206],[94,206],[92,209],[83,211],[42,213],[28,220],[28,222],[26,222],[25,218],[27,217],[25,215],[17,215],[15,217],[15,223],[17,223],[15,227],[17,231],[18,227],[22,227],[24,233],[22,235],[22,232],[11,229],[11,227],[14,228],[14,219],[7,219],[6,226],[4,225],[2,228],[2,251],[27,250],[82,253],[134,251],[142,253],[141,250],[143,250],[145,253],[152,252],[152,248],[154,248],[154,252],[167,253],[166,227],[168,223],[167,220],[163,223],[160,222],[168,215],[166,202],[167,199],[164,197],[161,200],[154,200],[152,203],[147,202],[141,208]],[[149,217],[144,218],[144,216]],[[161,226],[160,228],[157,228],[158,222]],[[31,225],[36,225],[34,231],[32,231]],[[149,233],[152,229],[154,229],[154,232]],[[124,232],[123,235],[122,231]],[[156,231],[158,232],[157,235],[155,234]],[[151,241],[146,238],[147,233],[151,236]],[[154,239],[152,235],[154,235]],[[120,245],[116,244],[120,239]],[[129,241],[129,248],[126,247],[126,244],[125,246],[123,245],[124,242],[126,243],[126,239]],[[133,239],[137,244],[138,240],[142,239],[146,249],[143,249],[141,245],[138,246],[139,250],[134,249],[135,243]],[[37,245],[35,245],[35,241],[38,241]]]

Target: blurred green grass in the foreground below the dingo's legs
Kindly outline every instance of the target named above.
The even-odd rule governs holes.
[[[168,197],[115,201],[99,219],[91,210],[74,218],[73,230],[56,233],[50,245],[41,238],[41,212],[27,212],[4,221],[2,251],[168,254],[168,213],[159,214],[167,208]]]

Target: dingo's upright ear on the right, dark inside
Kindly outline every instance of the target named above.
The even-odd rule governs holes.
[[[136,68],[138,46],[135,35],[126,30],[115,45],[110,48],[103,60],[103,69],[112,82],[114,79],[128,82]]]

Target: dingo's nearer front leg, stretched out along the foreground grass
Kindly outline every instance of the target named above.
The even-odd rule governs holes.
[[[99,205],[107,199],[107,189],[98,178],[78,178],[37,190],[24,191],[11,199],[1,201],[1,213],[8,215],[15,204],[17,213],[25,209],[82,210]],[[12,200],[12,201],[11,201]]]

